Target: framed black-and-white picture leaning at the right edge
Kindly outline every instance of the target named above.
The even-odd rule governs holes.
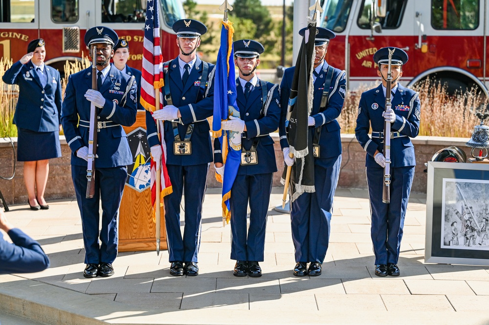
[[[489,265],[489,164],[428,162],[425,261]]]

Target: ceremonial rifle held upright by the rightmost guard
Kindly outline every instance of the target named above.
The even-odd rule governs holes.
[[[389,48],[389,65],[387,66],[387,85],[385,87],[385,110],[391,109],[391,87],[392,87],[392,55],[396,49]],[[391,193],[391,122],[384,121],[384,184],[382,186],[382,202],[390,203]]]

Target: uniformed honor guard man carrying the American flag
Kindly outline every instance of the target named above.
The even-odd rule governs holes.
[[[155,119],[164,121],[166,166],[173,188],[173,193],[164,197],[170,274],[196,276],[199,274],[197,253],[202,203],[207,170],[212,162],[207,117],[212,115],[214,108],[211,85],[214,65],[201,61],[196,53],[200,35],[207,31],[203,23],[182,19],[173,24],[173,30],[177,33],[180,54],[164,64],[164,107],[156,110],[153,116],[146,113],[146,128],[151,154],[159,163],[161,147]],[[180,232],[182,194],[185,195],[183,238]]]

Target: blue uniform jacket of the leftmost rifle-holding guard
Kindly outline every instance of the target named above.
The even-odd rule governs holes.
[[[87,165],[87,161],[77,157],[74,152],[81,147],[88,147],[89,128],[82,125],[88,125],[90,121],[90,102],[84,95],[88,89],[91,89],[91,77],[91,67],[70,75],[63,101],[61,121],[66,141],[72,152],[71,164],[77,166]],[[127,166],[133,163],[127,135],[122,129],[122,125],[131,126],[136,121],[136,85],[132,83],[132,86],[129,87],[132,78],[115,66],[111,66],[99,89],[105,98],[105,105],[101,109],[97,108],[99,117],[97,121],[111,121],[112,123],[109,122],[108,125],[115,124],[116,126],[99,129],[97,134],[98,158],[95,159],[95,166],[98,168]],[[120,106],[126,91],[125,105]],[[80,126],[77,126],[78,117],[80,117]]]

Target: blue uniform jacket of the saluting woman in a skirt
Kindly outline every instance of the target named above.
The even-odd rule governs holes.
[[[14,63],[5,71],[3,82],[19,85],[19,100],[13,123],[37,132],[58,131],[61,124],[61,82],[58,70],[44,65],[47,83],[43,87],[31,61]]]

